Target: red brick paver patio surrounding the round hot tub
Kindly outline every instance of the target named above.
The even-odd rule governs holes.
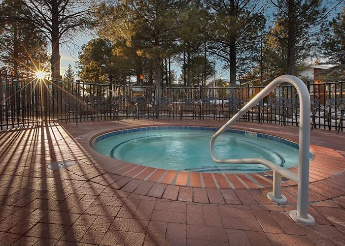
[[[288,216],[297,202],[292,183],[282,191],[289,203],[278,206],[266,198],[272,181],[262,174],[226,175],[231,189],[223,175],[153,173],[90,147],[101,132],[157,124],[223,122],[69,123],[1,133],[0,245],[345,245],[344,133],[311,132],[309,213],[316,224],[303,226]],[[298,140],[296,126],[235,127]],[[61,159],[77,165],[46,168]]]

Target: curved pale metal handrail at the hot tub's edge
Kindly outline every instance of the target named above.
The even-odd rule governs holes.
[[[299,162],[298,175],[284,169],[263,158],[243,159],[218,159],[214,151],[214,142],[231,124],[238,121],[250,108],[262,100],[268,93],[272,92],[281,83],[292,84],[300,97],[300,131],[299,131]],[[284,204],[287,199],[281,194],[281,177],[286,177],[298,183],[297,210],[290,212],[290,217],[296,222],[305,225],[313,225],[314,218],[308,214],[308,192],[309,192],[309,159],[310,159],[310,105],[311,99],[307,86],[302,80],[293,75],[281,75],[268,84],[261,92],[254,96],[244,107],[225,123],[211,138],[210,150],[213,160],[217,163],[241,163],[241,164],[262,164],[273,170],[273,191],[267,197],[276,203]]]

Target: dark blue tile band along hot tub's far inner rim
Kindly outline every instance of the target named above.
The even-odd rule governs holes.
[[[108,133],[104,133],[102,135],[99,135],[95,138],[92,139],[91,141],[91,145],[94,146],[96,143],[98,143],[99,141],[108,138],[108,137],[112,137],[112,136],[116,136],[116,135],[120,135],[120,134],[126,134],[126,133],[131,133],[131,132],[138,132],[138,131],[151,131],[151,130],[202,130],[202,131],[217,131],[219,130],[219,128],[217,127],[205,127],[205,126],[189,126],[189,125],[164,125],[164,126],[147,126],[147,127],[137,127],[137,128],[130,128],[130,129],[126,129],[126,130],[118,130],[118,131],[112,131],[112,132],[108,132]],[[237,129],[227,129],[225,132],[229,132],[229,133],[237,133],[237,134],[243,134],[245,135],[246,132],[252,132],[252,131],[244,131],[244,130],[237,130]],[[254,132],[256,133],[256,132]],[[248,137],[252,137],[252,136],[248,136]],[[290,140],[284,139],[284,138],[280,138],[280,137],[276,137],[273,135],[268,135],[268,134],[264,134],[264,133],[256,133],[256,137],[257,138],[264,138],[264,139],[269,139],[275,142],[279,142],[282,144],[286,144],[289,145],[295,149],[299,149],[299,145],[295,142],[292,142]],[[311,158],[314,158],[314,154],[312,152],[310,152],[310,156]]]

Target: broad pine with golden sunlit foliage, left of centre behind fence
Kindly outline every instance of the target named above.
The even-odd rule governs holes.
[[[138,56],[153,62],[155,82],[162,86],[162,61],[169,56],[177,30],[177,15],[182,0],[123,0],[120,4],[101,6],[109,13],[102,20],[102,33],[122,39]]]

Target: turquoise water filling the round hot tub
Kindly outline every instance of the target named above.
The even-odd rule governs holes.
[[[115,159],[162,169],[212,173],[269,170],[259,164],[215,163],[209,151],[209,141],[214,133],[211,130],[145,130],[106,136],[98,139],[93,148]],[[256,135],[225,132],[218,137],[215,150],[217,156],[224,159],[262,157],[284,168],[298,164],[298,149]]]

